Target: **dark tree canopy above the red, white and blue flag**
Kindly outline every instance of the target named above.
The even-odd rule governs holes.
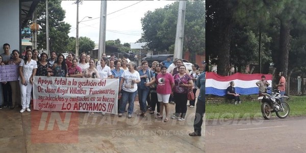
[[[263,62],[273,62],[285,77],[290,73],[290,65],[302,63],[290,60],[290,57],[301,58],[297,54],[305,52],[301,42],[303,34],[293,35],[297,27],[305,25],[306,3],[302,0],[208,0],[206,8],[206,36],[210,38],[206,42],[206,53],[217,57],[219,74],[227,75],[232,65],[259,64],[256,60],[259,46]]]

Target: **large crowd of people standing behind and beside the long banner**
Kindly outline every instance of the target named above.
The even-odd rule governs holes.
[[[138,115],[146,117],[147,111],[149,114],[156,112],[155,118],[163,119],[165,109],[164,122],[169,121],[169,118],[184,121],[187,106],[194,108],[195,105],[195,100],[191,100],[187,105],[187,93],[193,90],[195,95],[199,66],[193,64],[193,69],[189,72],[182,59],[176,59],[173,63],[155,61],[151,67],[147,61],[142,61],[141,66],[137,67],[127,56],[116,59],[113,54],[108,59],[104,53],[99,61],[95,61],[85,53],[82,53],[79,59],[69,53],[65,59],[62,54],[50,52],[48,58],[46,53],[39,55],[38,50],[32,50],[31,47],[25,48],[21,55],[16,49],[10,53],[10,45],[7,43],[3,48],[4,53],[0,55],[1,65],[19,65],[19,78],[18,81],[0,83],[0,96],[4,97],[3,100],[0,98],[0,109],[14,109],[20,105],[20,113],[31,112],[34,76],[119,79],[118,117],[127,112],[127,118],[132,118],[137,93],[141,110]],[[169,101],[175,101],[175,115],[172,117],[169,113]],[[129,107],[126,110],[127,104]]]

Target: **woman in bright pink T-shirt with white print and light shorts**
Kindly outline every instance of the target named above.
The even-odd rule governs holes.
[[[165,106],[166,118],[164,122],[169,120],[169,97],[172,93],[172,88],[174,87],[174,79],[170,73],[167,72],[166,66],[161,66],[161,73],[157,75],[156,78],[157,83],[157,99],[160,102],[160,115],[156,118],[163,118],[163,111]]]

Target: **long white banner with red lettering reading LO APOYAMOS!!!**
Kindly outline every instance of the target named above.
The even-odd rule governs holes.
[[[117,114],[118,79],[34,77],[34,110]]]

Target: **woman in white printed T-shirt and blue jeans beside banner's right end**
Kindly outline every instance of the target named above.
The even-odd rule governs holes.
[[[129,102],[129,108],[127,108],[127,118],[132,118],[134,110],[134,100],[137,94],[137,84],[140,83],[140,76],[138,71],[135,70],[135,63],[130,62],[127,64],[126,70],[122,73],[121,81],[119,84],[119,93],[122,89],[121,106],[118,116],[121,117],[125,110],[127,102]]]

